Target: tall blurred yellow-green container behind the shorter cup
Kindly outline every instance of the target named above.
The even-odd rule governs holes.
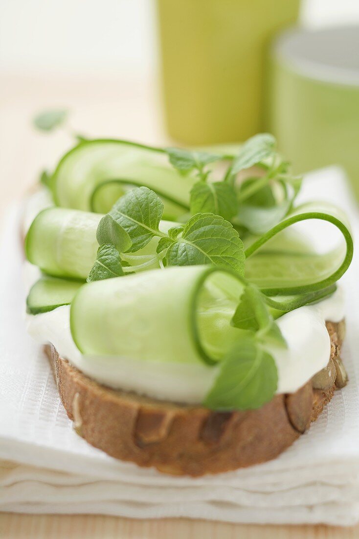
[[[158,0],[168,133],[186,144],[263,129],[266,45],[300,0]]]

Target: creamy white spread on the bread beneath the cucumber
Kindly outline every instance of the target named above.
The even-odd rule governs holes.
[[[52,343],[67,359],[97,382],[115,389],[135,391],[150,397],[198,404],[217,375],[216,367],[204,363],[178,364],[130,361],[121,357],[83,356],[76,347],[69,325],[70,307],[28,315],[27,329],[39,343]],[[339,288],[330,298],[313,306],[300,307],[277,320],[288,348],[268,347],[278,368],[277,393],[292,393],[316,372],[326,367],[330,338],[325,321],[344,317],[343,293]]]

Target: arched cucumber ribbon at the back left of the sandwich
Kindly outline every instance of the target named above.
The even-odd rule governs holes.
[[[180,174],[163,150],[119,140],[81,142],[61,159],[53,175],[59,206],[105,212],[126,189],[145,185],[163,199],[167,219],[188,211],[195,182],[195,174]]]

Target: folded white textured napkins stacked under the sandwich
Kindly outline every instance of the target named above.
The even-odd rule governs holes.
[[[309,198],[342,206],[359,236],[340,169],[308,175],[301,200]],[[0,510],[256,523],[359,520],[357,253],[342,279],[347,387],[335,392],[318,421],[279,458],[198,479],[171,477],[112,459],[74,432],[41,347],[25,331],[21,213],[14,208],[9,215],[0,251]]]

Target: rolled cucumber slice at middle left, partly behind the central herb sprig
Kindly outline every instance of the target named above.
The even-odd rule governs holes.
[[[48,208],[34,219],[25,240],[27,259],[48,275],[86,280],[96,260],[97,225],[103,216],[98,213],[66,208]],[[161,232],[177,225],[162,220]],[[133,271],[159,268],[156,253],[159,237],[154,237],[135,255],[123,254]]]

